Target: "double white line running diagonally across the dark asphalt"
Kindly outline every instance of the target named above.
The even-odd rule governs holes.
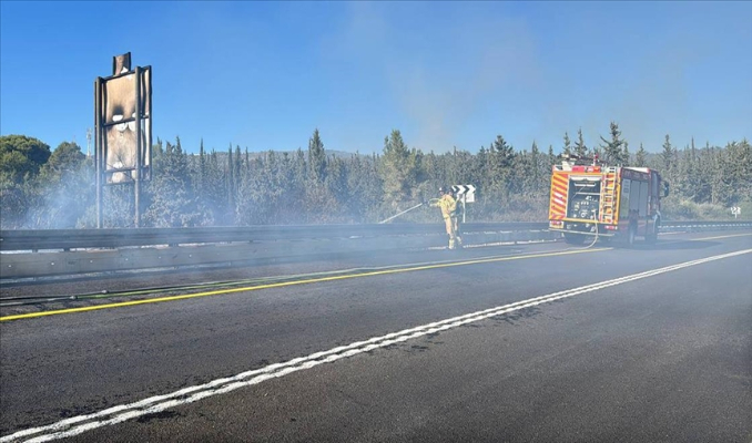
[[[358,341],[347,346],[333,348],[327,351],[312,353],[307,357],[296,358],[283,363],[270,364],[261,369],[242,372],[234,377],[217,379],[205,384],[185,388],[170,394],[151,396],[149,399],[144,399],[134,403],[121,404],[92,414],[79,415],[71,419],[61,420],[57,423],[49,424],[45,426],[19,431],[13,434],[1,437],[0,443],[16,442],[19,439],[23,439],[35,434],[42,435],[37,435],[31,440],[28,440],[28,442],[47,442],[51,440],[78,435],[96,427],[121,423],[146,414],[152,414],[171,408],[180,406],[182,404],[193,403],[201,399],[234,391],[238,388],[258,384],[270,379],[284,377],[289,373],[302,371],[305,369],[311,369],[323,363],[331,363],[344,358],[357,356],[364,352],[369,352],[378,348],[385,348],[390,344],[413,340],[430,333],[446,331],[449,329],[460,327],[463,324],[488,319],[490,317],[496,317],[516,310],[530,308],[541,303],[548,303],[555,300],[573,297],[585,292],[591,292],[595,290],[608,288],[616,285],[622,285],[629,281],[670,272],[690,266],[701,265],[704,262],[735,257],[750,253],[752,253],[752,249],[744,249],[735,253],[729,253],[698,260],[685,261],[678,265],[667,266],[660,269],[633,274],[631,276],[620,277],[593,285],[587,285],[579,288],[568,289],[565,291],[553,292],[547,296],[517,301],[514,303],[504,305],[496,308],[489,308],[481,311],[467,313],[464,316],[454,317],[450,319],[436,321],[433,323],[423,324],[410,329],[405,329],[399,332],[387,333],[386,336],[374,337],[365,341]]]

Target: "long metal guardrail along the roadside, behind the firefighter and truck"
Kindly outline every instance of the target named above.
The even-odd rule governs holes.
[[[752,223],[664,222],[661,231],[751,228]],[[548,223],[471,223],[461,230],[468,246],[561,238]],[[0,279],[281,262],[446,243],[443,224],[0,230]]]

